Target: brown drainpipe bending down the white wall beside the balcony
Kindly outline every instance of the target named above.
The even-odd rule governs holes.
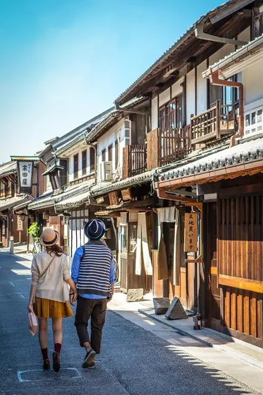
[[[219,78],[219,73],[221,70],[214,71],[210,69],[209,79],[210,84],[217,85],[219,87],[234,87],[239,88],[240,91],[240,99],[239,99],[239,108],[240,108],[240,116],[239,116],[239,130],[237,134],[231,137],[230,147],[235,146],[235,139],[239,139],[244,135],[244,85],[242,82],[234,82],[228,80],[222,80]]]

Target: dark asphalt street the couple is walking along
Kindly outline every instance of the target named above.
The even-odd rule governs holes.
[[[0,395],[258,394],[190,356],[187,341],[183,352],[176,352],[161,337],[113,311],[107,313],[96,369],[81,368],[84,351],[73,319],[66,319],[62,370],[43,372],[37,336],[27,328],[29,266],[22,257],[0,253]],[[51,356],[51,331],[49,344]]]

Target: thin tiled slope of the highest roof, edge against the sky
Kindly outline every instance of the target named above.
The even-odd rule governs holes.
[[[183,35],[181,35],[181,37],[179,37],[179,40],[176,40],[176,42],[169,49],[167,49],[167,51],[165,51],[165,53],[163,53],[163,55],[161,55],[161,57],[158,58],[158,60],[156,60],[156,62],[154,62],[139,78],[137,78],[137,80],[133,82],[133,84],[131,84],[122,94],[120,94],[120,96],[118,96],[118,98],[116,98],[115,103],[123,103],[127,101],[126,98],[128,97],[128,94],[129,95],[132,94],[133,91],[135,96],[135,91],[137,87],[143,83],[145,78],[151,77],[151,75],[154,76],[154,74],[156,74],[157,69],[161,69],[165,67],[165,62],[167,61],[168,58],[172,56],[174,51],[178,49],[179,46],[183,44],[185,40],[188,39],[188,37],[190,37],[190,35],[194,34],[194,28],[197,24],[199,24],[201,21],[209,19],[210,17],[212,17],[212,15],[216,14],[222,8],[226,8],[230,6],[232,3],[238,1],[239,0],[228,0],[225,3],[221,4],[221,6],[218,6],[217,8],[214,8],[213,10],[207,12],[205,15],[201,16],[194,24],[192,24],[192,26],[190,26],[188,30],[186,30],[186,32]],[[250,2],[252,3],[252,0]]]

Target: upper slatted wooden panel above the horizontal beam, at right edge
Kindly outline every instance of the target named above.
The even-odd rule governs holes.
[[[262,195],[219,199],[219,276],[263,282],[262,207]]]

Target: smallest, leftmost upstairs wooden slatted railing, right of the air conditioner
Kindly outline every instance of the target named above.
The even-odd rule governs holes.
[[[132,177],[146,170],[145,145],[133,144],[123,148],[123,178]]]

